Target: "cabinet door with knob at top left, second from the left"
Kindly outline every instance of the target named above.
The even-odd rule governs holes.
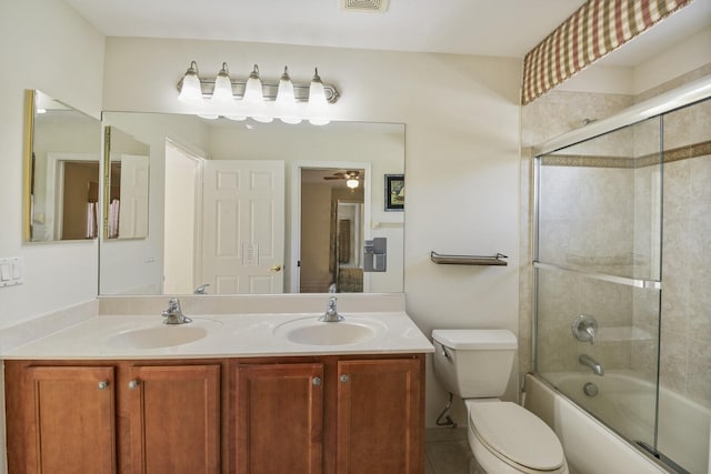
[[[220,365],[129,367],[132,470],[220,471]]]

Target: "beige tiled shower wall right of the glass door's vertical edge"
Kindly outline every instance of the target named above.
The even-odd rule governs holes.
[[[679,160],[664,164],[660,377],[711,407],[711,100],[668,114],[663,135]]]

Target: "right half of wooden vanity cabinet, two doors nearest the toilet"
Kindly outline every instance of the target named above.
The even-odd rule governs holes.
[[[236,371],[238,473],[423,472],[420,356],[329,356]]]

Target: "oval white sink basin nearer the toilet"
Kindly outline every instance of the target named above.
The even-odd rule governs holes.
[[[298,344],[346,345],[368,342],[385,330],[380,321],[364,317],[347,316],[346,321],[326,323],[312,316],[280,324],[274,334]]]

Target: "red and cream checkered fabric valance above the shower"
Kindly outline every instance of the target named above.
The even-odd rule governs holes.
[[[527,104],[692,0],[589,0],[525,54]]]

